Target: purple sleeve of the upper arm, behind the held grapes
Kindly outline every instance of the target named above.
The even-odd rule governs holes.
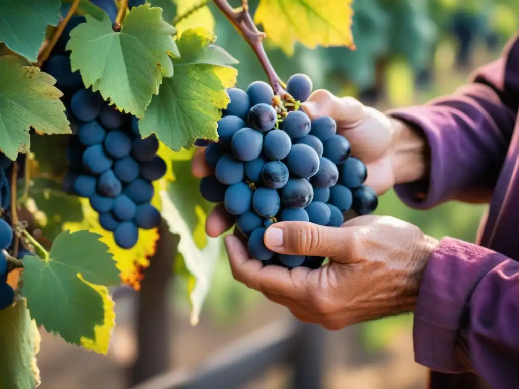
[[[424,132],[431,151],[429,182],[395,186],[409,206],[488,198],[503,164],[519,107],[519,40],[451,95],[388,115]]]

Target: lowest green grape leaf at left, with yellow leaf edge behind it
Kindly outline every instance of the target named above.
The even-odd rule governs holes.
[[[69,343],[97,343],[96,328],[105,325],[105,295],[98,286],[118,285],[117,268],[99,234],[60,233],[49,256],[23,258],[23,296],[31,316],[47,331]],[[107,293],[107,292],[106,292]]]

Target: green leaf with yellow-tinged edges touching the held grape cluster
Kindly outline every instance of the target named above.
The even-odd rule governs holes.
[[[216,122],[229,103],[220,72],[235,72],[231,65],[238,61],[212,45],[214,39],[203,28],[182,34],[181,58],[173,60],[175,76],[163,81],[139,121],[142,136],[156,133],[175,151],[192,147],[197,138],[217,140]]]

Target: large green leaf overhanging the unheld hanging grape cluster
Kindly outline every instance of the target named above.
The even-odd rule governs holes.
[[[72,70],[79,70],[85,86],[99,90],[104,100],[142,117],[162,77],[173,75],[171,57],[179,56],[175,27],[162,19],[161,8],[148,3],[128,12],[119,33],[106,13],[101,20],[85,18],[66,46],[72,50]]]

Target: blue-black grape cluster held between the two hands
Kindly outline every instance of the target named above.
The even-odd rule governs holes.
[[[312,83],[297,74],[286,89],[303,102]],[[350,143],[336,133],[331,117],[310,120],[302,110],[288,112],[266,82],[227,93],[230,103],[218,121],[219,140],[205,150],[215,174],[201,180],[202,196],[223,202],[236,216],[251,257],[289,269],[321,266],[325,258],[271,252],[263,242],[265,229],[288,220],[339,227],[350,209],[358,215],[373,212],[378,199],[363,185],[365,164],[350,156]]]

